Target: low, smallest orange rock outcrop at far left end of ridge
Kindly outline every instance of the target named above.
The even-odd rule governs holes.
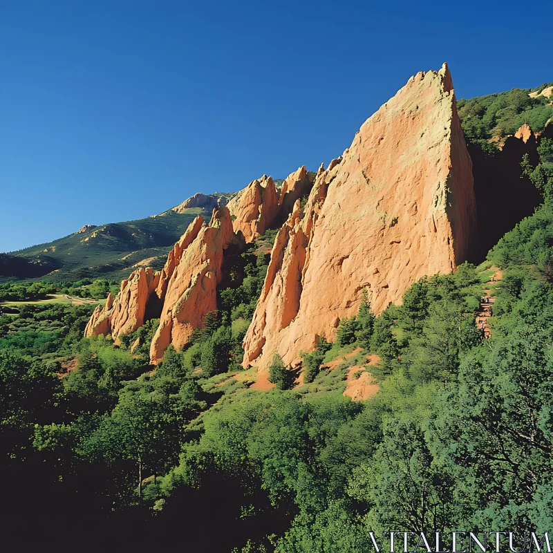
[[[129,334],[142,326],[149,297],[156,290],[159,277],[159,272],[153,272],[151,268],[131,273],[129,279],[122,281],[115,299],[109,294],[104,308],[97,306],[84,329],[84,335],[111,334],[117,344],[119,335]]]

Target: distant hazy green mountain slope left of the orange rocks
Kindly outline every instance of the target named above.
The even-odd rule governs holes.
[[[75,232],[50,243],[39,244],[3,256],[1,277],[75,281],[85,277],[126,278],[133,265],[148,260],[158,268],[165,256],[202,209],[187,209],[109,223]]]

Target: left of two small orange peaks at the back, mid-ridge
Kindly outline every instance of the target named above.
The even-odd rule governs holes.
[[[242,232],[246,242],[253,242],[279,214],[279,197],[274,181],[263,175],[250,182],[229,201],[227,207],[234,218],[234,232]]]

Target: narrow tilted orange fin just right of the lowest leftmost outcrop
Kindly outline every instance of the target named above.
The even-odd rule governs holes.
[[[214,209],[209,225],[197,225],[192,223],[181,238],[184,247],[180,255],[175,254],[173,261],[167,259],[160,326],[150,348],[153,364],[160,362],[169,344],[182,348],[192,331],[202,326],[205,315],[217,308],[216,285],[221,281],[223,251],[234,241],[229,210],[225,206]],[[176,245],[176,250],[180,246]],[[158,291],[162,288],[160,279]]]

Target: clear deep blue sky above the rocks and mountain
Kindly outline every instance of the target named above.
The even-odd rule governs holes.
[[[3,0],[0,252],[317,169],[417,71],[553,80],[547,3]]]

